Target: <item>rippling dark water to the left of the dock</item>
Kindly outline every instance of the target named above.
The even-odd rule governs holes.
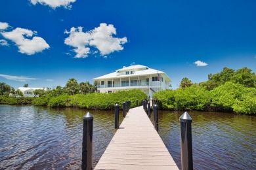
[[[0,169],[80,169],[88,110],[0,105]],[[94,163],[114,136],[114,112],[94,116]]]

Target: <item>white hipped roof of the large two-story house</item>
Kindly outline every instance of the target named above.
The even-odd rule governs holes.
[[[125,71],[135,71],[132,75],[119,75],[120,72]],[[106,79],[106,78],[125,78],[125,77],[132,77],[132,76],[146,76],[146,75],[154,75],[154,74],[161,74],[161,76],[164,76],[165,79],[171,81],[171,78],[166,75],[163,71],[159,71],[156,69],[150,69],[144,65],[131,65],[129,67],[123,67],[122,69],[116,70],[116,72],[110,73],[108,75],[98,76],[96,78],[93,78],[93,80],[100,80],[100,79]]]

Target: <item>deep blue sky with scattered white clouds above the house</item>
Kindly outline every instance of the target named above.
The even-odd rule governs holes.
[[[256,71],[256,1],[3,0],[0,82],[65,86],[131,64],[207,80],[223,67]]]

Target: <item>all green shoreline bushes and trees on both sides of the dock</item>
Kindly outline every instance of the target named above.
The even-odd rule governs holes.
[[[26,84],[28,86],[28,84]],[[35,90],[37,97],[23,97],[11,86],[0,83],[0,104],[32,104],[47,107],[80,107],[92,110],[113,110],[114,105],[130,100],[136,107],[148,98],[141,90],[96,93],[96,84],[70,78],[64,88]],[[256,114],[256,75],[243,67],[235,71],[227,67],[221,73],[209,74],[208,80],[192,83],[184,77],[176,90],[161,90],[153,96],[160,110],[200,110]]]

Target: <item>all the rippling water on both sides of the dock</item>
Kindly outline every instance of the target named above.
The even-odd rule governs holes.
[[[88,110],[0,105],[0,169],[80,169]],[[94,116],[94,163],[116,132],[114,111]],[[181,168],[179,116],[160,112],[160,136]],[[194,169],[256,169],[256,117],[189,112]],[[120,112],[121,118],[121,112]],[[121,120],[120,120],[121,122]]]

